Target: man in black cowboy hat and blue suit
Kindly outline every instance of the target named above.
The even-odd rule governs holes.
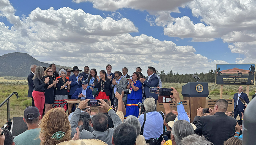
[[[82,81],[84,80],[83,76],[78,75],[79,72],[82,71],[82,70],[78,69],[78,66],[74,66],[73,70],[71,70],[71,71],[73,71],[74,75],[71,75],[69,77],[71,84],[70,84],[68,99],[71,99],[71,96],[74,94],[74,92],[76,91],[77,88],[82,87]]]

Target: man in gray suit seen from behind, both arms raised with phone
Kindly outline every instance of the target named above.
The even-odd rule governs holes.
[[[108,115],[111,117],[114,123],[114,129],[122,123],[121,119],[117,116],[116,112],[102,99],[99,99],[101,103],[99,103],[101,108],[107,110]],[[78,121],[81,114],[81,110],[87,107],[89,99],[81,101],[76,108],[73,116],[70,120],[71,125],[71,135],[74,136],[76,133],[76,128],[78,127]],[[106,129],[108,127],[108,119],[105,114],[98,113],[92,117],[92,124],[94,131],[89,132],[87,130],[82,130],[80,132],[80,139],[99,139],[103,142],[106,142],[108,145],[112,145],[112,136],[114,133],[113,128]]]

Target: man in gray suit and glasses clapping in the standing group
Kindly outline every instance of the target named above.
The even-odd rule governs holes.
[[[121,94],[122,90],[125,90],[127,85],[128,85],[128,80],[125,77],[122,77],[122,73],[120,71],[115,71],[115,76],[112,80],[112,85],[110,85],[110,88],[113,89],[112,92],[112,99],[117,100],[116,96],[116,91]],[[127,94],[124,94],[123,96],[123,103],[126,106],[126,101],[127,101]],[[113,104],[111,104],[113,105]]]

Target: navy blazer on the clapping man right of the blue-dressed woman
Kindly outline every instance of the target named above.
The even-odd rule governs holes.
[[[149,88],[150,87],[157,87],[158,86],[158,83],[159,83],[159,80],[158,80],[158,77],[153,74],[149,80],[148,80],[149,77],[146,78],[146,80],[144,81],[144,94],[146,95],[146,98],[152,96],[153,98],[155,98],[156,100],[158,99],[158,94],[155,94],[155,93],[150,93],[149,92]]]

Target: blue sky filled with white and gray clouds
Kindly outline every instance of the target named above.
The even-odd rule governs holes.
[[[255,0],[0,0],[0,55],[96,70],[255,63]]]

